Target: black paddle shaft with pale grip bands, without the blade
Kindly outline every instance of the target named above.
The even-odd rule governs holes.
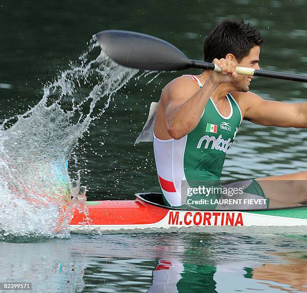
[[[216,64],[205,62],[205,61],[199,61],[199,60],[191,60],[191,68],[209,69],[209,70],[221,72],[221,68],[217,66]],[[257,70],[253,68],[240,67],[240,66],[236,67],[236,72],[238,74],[250,75],[250,76],[253,75],[253,76],[283,79],[283,80],[307,82],[307,76],[299,75],[299,74],[292,74],[292,73],[283,73],[283,72],[276,72],[276,71],[269,71],[269,70]]]

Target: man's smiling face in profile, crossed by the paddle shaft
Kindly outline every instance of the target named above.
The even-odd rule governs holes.
[[[259,46],[251,48],[249,54],[246,57],[244,57],[240,62],[238,62],[238,66],[260,69],[259,54],[260,54]],[[253,78],[254,78],[253,76],[246,76],[239,74],[238,77],[233,81],[233,85],[237,91],[247,92],[249,90],[250,82]]]

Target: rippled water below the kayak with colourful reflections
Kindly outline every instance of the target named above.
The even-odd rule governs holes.
[[[0,242],[0,280],[32,281],[33,292],[303,292],[305,245],[303,235],[229,233]]]

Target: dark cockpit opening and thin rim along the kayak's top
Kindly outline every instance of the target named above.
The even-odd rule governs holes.
[[[155,192],[143,192],[143,193],[135,193],[136,198],[140,199],[141,201],[157,206],[160,208],[168,209],[168,210],[178,210],[178,211],[210,211],[208,210],[200,210],[200,209],[189,209],[189,208],[177,208],[177,207],[169,207],[164,204],[162,193],[155,193]],[[288,210],[288,209],[299,209],[299,208],[306,208],[307,204],[301,206],[292,206],[292,207],[281,207],[281,208],[271,208],[271,209],[233,209],[236,211],[276,211],[276,210]],[[217,212],[229,212],[230,210],[215,210]]]

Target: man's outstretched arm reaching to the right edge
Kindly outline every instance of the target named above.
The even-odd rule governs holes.
[[[258,95],[241,93],[240,100],[247,104],[244,118],[261,125],[307,128],[307,103],[267,101]]]

